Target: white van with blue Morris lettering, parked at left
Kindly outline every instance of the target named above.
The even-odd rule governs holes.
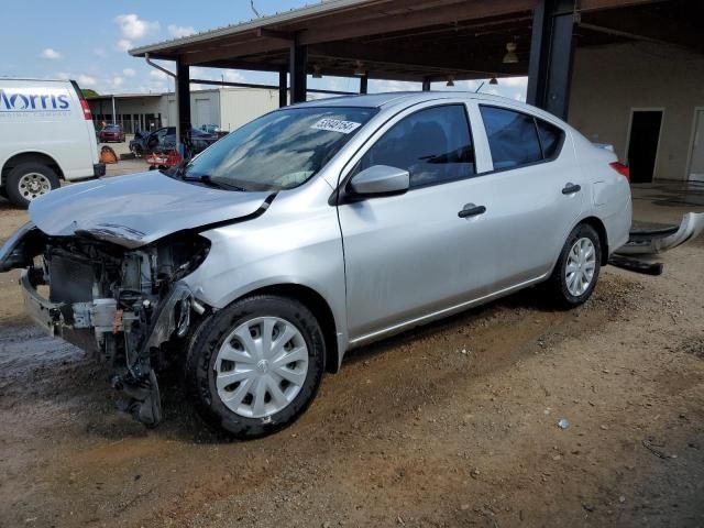
[[[106,174],[88,101],[73,80],[0,78],[0,194],[21,207]]]

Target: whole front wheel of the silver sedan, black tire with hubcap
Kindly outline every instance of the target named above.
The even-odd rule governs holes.
[[[262,354],[268,346],[257,349],[266,343],[266,329],[279,341],[288,338],[273,339],[278,351],[268,356]],[[195,333],[186,359],[187,394],[210,427],[240,440],[262,438],[308,408],[320,386],[324,352],[320,326],[304,305],[248,297],[216,312]]]

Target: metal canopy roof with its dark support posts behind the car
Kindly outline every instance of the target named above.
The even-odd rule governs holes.
[[[190,66],[277,72],[280,106],[287,77],[290,101],[306,100],[308,74],[360,76],[361,92],[369,78],[428,90],[528,75],[528,102],[566,119],[575,47],[640,40],[704,53],[702,19],[698,0],[328,0],[130,54],[176,62],[185,147]]]

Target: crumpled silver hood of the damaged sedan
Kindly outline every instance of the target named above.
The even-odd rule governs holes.
[[[53,190],[31,202],[30,217],[53,237],[79,231],[139,248],[177,231],[252,215],[267,207],[270,195],[213,189],[150,170]]]

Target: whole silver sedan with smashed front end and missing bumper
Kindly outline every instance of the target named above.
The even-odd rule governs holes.
[[[0,271],[24,268],[42,327],[110,359],[143,422],[176,363],[209,424],[256,438],[292,424],[350,349],[528,286],[586,301],[628,240],[620,169],[508,99],[323,99],[179,168],[41,198]]]

